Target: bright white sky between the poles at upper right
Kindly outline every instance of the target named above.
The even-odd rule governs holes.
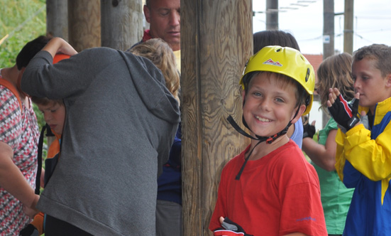
[[[299,5],[306,6],[299,6]],[[253,31],[265,30],[265,0],[253,0]],[[279,0],[279,8],[293,7],[279,14],[279,28],[289,31],[297,39],[303,53],[323,53],[323,1]],[[353,50],[372,43],[391,45],[391,1],[354,2]],[[334,1],[334,12],[343,13],[344,1]],[[343,15],[335,16],[334,47],[343,50]]]

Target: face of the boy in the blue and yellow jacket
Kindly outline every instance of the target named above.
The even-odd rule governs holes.
[[[352,64],[354,90],[360,92],[360,106],[369,107],[374,112],[375,105],[391,96],[390,75],[382,77],[382,73],[375,68],[376,60],[363,58]]]

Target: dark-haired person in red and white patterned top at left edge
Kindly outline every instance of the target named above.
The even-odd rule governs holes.
[[[48,41],[35,38],[18,53],[16,65],[0,69],[0,235],[16,235],[25,227],[33,215],[23,213],[22,207],[35,206],[39,198],[34,193],[38,123],[20,83],[31,58]]]

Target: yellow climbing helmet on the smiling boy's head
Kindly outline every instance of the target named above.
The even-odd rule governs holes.
[[[281,46],[266,46],[253,55],[247,62],[243,76],[239,82],[243,90],[248,85],[246,75],[253,71],[270,71],[292,77],[299,82],[309,97],[306,99],[306,106],[302,115],[308,114],[314,100],[315,74],[314,68],[307,58],[298,50]],[[244,81],[243,81],[244,80]]]

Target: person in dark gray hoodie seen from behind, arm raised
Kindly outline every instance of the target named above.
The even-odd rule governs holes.
[[[56,53],[72,57],[52,65]],[[53,38],[21,88],[67,110],[60,159],[37,205],[48,215],[45,235],[155,235],[156,180],[180,122],[160,70],[132,53],[77,53]]]

